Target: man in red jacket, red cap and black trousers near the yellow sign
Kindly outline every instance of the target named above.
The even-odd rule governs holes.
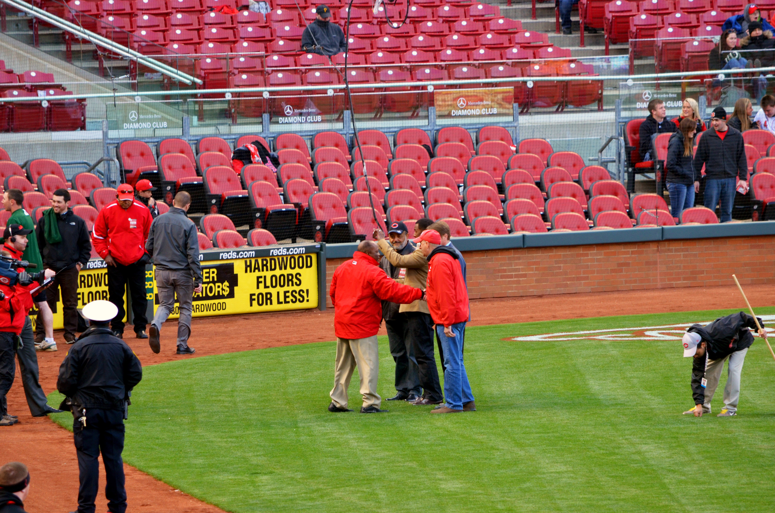
[[[91,237],[95,251],[108,265],[108,301],[119,308],[110,327],[115,336],[123,338],[124,294],[129,284],[135,333],[138,339],[147,339],[145,267],[150,263],[150,257],[145,243],[153,218],[148,207],[135,199],[131,185],[119,185],[115,198],[114,203],[99,211]]]

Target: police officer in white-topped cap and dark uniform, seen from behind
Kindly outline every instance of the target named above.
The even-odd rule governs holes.
[[[59,368],[57,389],[67,396],[60,409],[71,409],[74,418],[81,482],[77,513],[95,513],[100,453],[105,463],[108,511],[126,511],[123,419],[129,394],[143,379],[143,368],[132,349],[110,329],[118,311],[110,301],[91,301],[84,306],[83,315],[91,326],[78,337]]]

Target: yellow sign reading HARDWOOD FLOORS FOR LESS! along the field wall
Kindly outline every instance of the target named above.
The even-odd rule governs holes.
[[[154,281],[153,312],[159,308]],[[318,307],[317,253],[202,262],[202,292],[192,316],[277,312]],[[177,299],[170,315],[179,315]]]

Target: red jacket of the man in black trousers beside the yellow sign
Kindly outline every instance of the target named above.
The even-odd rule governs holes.
[[[121,265],[131,265],[145,253],[145,243],[153,218],[146,205],[133,201],[124,210],[113,201],[99,211],[91,240],[100,257],[112,255]]]

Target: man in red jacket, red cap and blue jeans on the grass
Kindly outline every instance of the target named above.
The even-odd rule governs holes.
[[[444,396],[446,403],[431,413],[456,413],[476,411],[474,394],[463,365],[463,335],[468,321],[468,292],[463,271],[455,250],[441,246],[441,236],[436,230],[425,230],[415,243],[428,259],[428,282],[425,293],[428,309],[436,323],[444,350]]]

